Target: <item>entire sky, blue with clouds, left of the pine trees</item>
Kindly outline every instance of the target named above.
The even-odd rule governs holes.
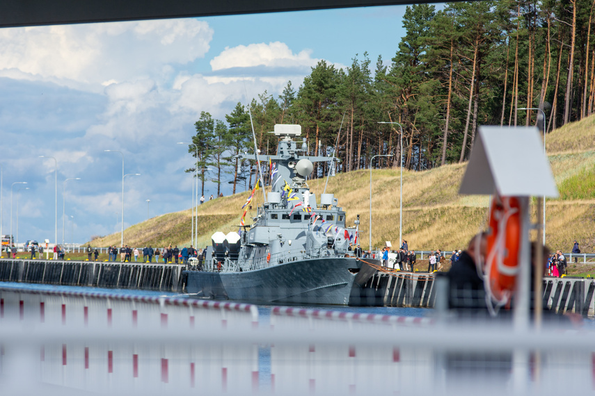
[[[58,242],[119,232],[191,207],[185,147],[201,111],[223,119],[264,90],[297,90],[319,60],[395,55],[405,6],[0,29],[2,233]],[[65,179],[79,177],[81,180]],[[63,191],[66,191],[65,206]],[[216,185],[207,184],[207,195]],[[224,185],[223,193],[230,193]],[[238,208],[238,216],[241,215]],[[72,216],[72,217],[71,217]],[[74,235],[72,235],[74,233]]]

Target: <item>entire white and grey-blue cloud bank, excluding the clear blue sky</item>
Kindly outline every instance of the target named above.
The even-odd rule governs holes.
[[[29,239],[54,239],[54,162],[39,155],[58,160],[59,206],[63,181],[81,177],[68,183],[66,207],[77,242],[120,229],[122,162],[104,149],[122,151],[125,173],[142,174],[125,181],[125,226],[145,219],[145,199],[152,216],[184,210],[192,158],[175,142],[191,138],[200,112],[225,119],[237,102],[265,90],[277,96],[289,80],[299,86],[318,62],[271,42],[227,48],[211,72],[197,73],[212,35],[195,19],[0,29],[0,133],[11,147],[5,188],[10,174],[33,190],[21,202]],[[207,183],[207,195],[214,192]]]

